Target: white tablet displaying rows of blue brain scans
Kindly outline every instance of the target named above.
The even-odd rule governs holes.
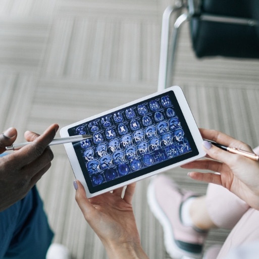
[[[61,129],[88,198],[205,156],[202,138],[179,86],[173,86]]]

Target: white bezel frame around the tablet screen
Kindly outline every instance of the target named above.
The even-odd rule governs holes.
[[[86,123],[86,122],[88,122],[88,121],[91,121],[91,120],[94,120],[94,119],[97,119],[97,118],[100,118],[100,117],[103,117],[103,116],[106,116],[106,115],[108,115],[108,114],[110,114],[110,113],[115,113],[115,112],[117,112],[118,110],[125,109],[125,108],[127,108],[127,107],[132,106],[132,105],[135,105],[135,104],[138,103],[138,102],[145,101],[145,100],[147,100],[147,99],[156,97],[156,96],[161,95],[161,94],[163,94],[163,93],[166,93],[166,92],[168,92],[168,91],[173,91],[174,94],[175,94],[175,97],[176,97],[176,99],[177,99],[177,101],[178,101],[178,105],[179,105],[180,110],[181,110],[181,112],[182,112],[182,114],[183,114],[183,117],[184,117],[184,119],[185,119],[186,125],[187,125],[187,127],[188,127],[188,129],[189,129],[189,132],[190,132],[190,134],[191,134],[191,137],[192,137],[192,139],[193,139],[194,145],[195,145],[195,147],[196,147],[196,148],[195,148],[195,149],[197,150],[196,156],[193,156],[193,157],[188,158],[188,159],[185,159],[185,160],[181,160],[181,161],[179,161],[179,162],[177,162],[177,163],[174,163],[174,164],[172,164],[172,165],[163,167],[163,168],[161,168],[161,169],[158,169],[158,170],[155,170],[155,171],[152,171],[152,172],[149,172],[149,173],[144,173],[144,174],[139,175],[139,176],[136,176],[136,177],[134,177],[134,176],[136,175],[135,173],[134,173],[134,175],[133,175],[133,173],[131,173],[131,174],[130,174],[130,175],[131,175],[130,177],[131,177],[131,178],[133,177],[133,179],[128,179],[128,180],[127,180],[127,177],[121,177],[121,178],[123,178],[122,180],[120,180],[120,181],[122,181],[121,183],[115,184],[115,185],[113,185],[113,186],[109,186],[109,187],[107,187],[107,188],[105,188],[105,189],[102,189],[102,187],[101,187],[100,190],[97,190],[97,191],[92,192],[91,186],[90,186],[90,187],[87,186],[87,183],[86,183],[84,174],[83,174],[83,172],[82,172],[80,163],[79,163],[79,161],[78,161],[77,154],[76,154],[76,152],[75,152],[75,149],[74,149],[74,147],[73,147],[73,144],[72,144],[72,143],[66,143],[66,144],[64,144],[64,146],[65,146],[65,149],[66,149],[66,151],[67,151],[67,154],[68,154],[68,157],[69,157],[69,160],[70,160],[70,163],[71,163],[71,166],[72,166],[74,175],[75,175],[76,179],[78,179],[78,180],[83,184],[83,186],[84,186],[84,188],[85,188],[85,191],[86,191],[86,195],[87,195],[88,198],[93,197],[93,196],[96,196],[96,195],[99,195],[99,194],[101,194],[101,193],[105,193],[105,192],[108,192],[108,191],[117,189],[117,188],[119,188],[119,187],[128,185],[128,184],[130,184],[130,183],[132,183],[132,182],[139,181],[139,180],[144,179],[144,178],[146,178],[146,177],[153,176],[153,175],[155,175],[155,174],[158,174],[158,173],[161,173],[161,172],[163,172],[163,171],[166,171],[166,170],[169,170],[169,169],[172,169],[172,168],[181,166],[181,165],[183,165],[183,164],[187,164],[187,163],[189,163],[189,162],[191,162],[191,161],[197,160],[197,159],[202,158],[202,157],[205,156],[205,152],[204,152],[204,150],[202,149],[202,145],[201,145],[201,143],[202,143],[201,135],[200,135],[200,133],[199,133],[199,130],[198,130],[198,127],[197,127],[197,125],[196,125],[196,122],[195,122],[195,120],[194,120],[194,118],[193,118],[193,115],[192,115],[192,113],[191,113],[191,111],[190,111],[190,108],[189,108],[189,106],[188,106],[188,103],[187,103],[187,100],[186,100],[186,98],[185,98],[185,96],[184,96],[184,93],[183,93],[182,89],[181,89],[179,86],[172,86],[172,87],[167,88],[167,89],[165,89],[165,90],[163,90],[163,91],[150,94],[150,95],[148,95],[148,96],[145,96],[145,97],[143,97],[143,98],[137,99],[137,100],[135,100],[135,101],[126,103],[125,105],[122,105],[122,106],[120,106],[120,107],[111,109],[111,110],[106,111],[106,112],[103,112],[103,113],[101,113],[101,114],[98,114],[98,115],[92,116],[92,117],[90,117],[90,118],[81,120],[81,121],[79,121],[79,122],[73,123],[73,124],[71,124],[71,125],[68,125],[68,126],[66,126],[66,127],[64,127],[64,128],[61,129],[60,135],[61,135],[62,137],[68,137],[68,136],[70,136],[70,135],[69,135],[69,129],[70,129],[70,128],[73,128],[73,127],[75,127],[75,126],[77,126],[77,125]],[[184,156],[184,155],[182,155],[182,156]],[[179,156],[179,157],[182,157],[182,156]],[[151,166],[151,167],[154,167],[154,166]],[[142,170],[143,170],[143,169],[142,169]],[[90,191],[90,190],[91,190],[91,191]]]

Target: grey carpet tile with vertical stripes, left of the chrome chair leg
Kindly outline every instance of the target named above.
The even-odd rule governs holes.
[[[156,22],[96,18],[55,19],[44,75],[157,81],[160,26]]]

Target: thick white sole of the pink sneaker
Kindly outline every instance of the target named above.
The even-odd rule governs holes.
[[[147,202],[148,202],[150,211],[153,213],[154,217],[156,217],[157,220],[162,225],[162,228],[164,231],[164,244],[168,254],[175,259],[181,259],[183,256],[188,256],[193,259],[200,259],[202,257],[202,254],[188,253],[187,251],[179,248],[175,243],[174,232],[172,230],[170,221],[168,220],[167,216],[164,214],[164,212],[160,208],[160,205],[157,202],[156,195],[154,192],[153,179],[151,179],[147,187]]]

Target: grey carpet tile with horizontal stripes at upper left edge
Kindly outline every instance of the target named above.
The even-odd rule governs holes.
[[[0,67],[37,72],[43,61],[49,23],[35,18],[0,19]]]

